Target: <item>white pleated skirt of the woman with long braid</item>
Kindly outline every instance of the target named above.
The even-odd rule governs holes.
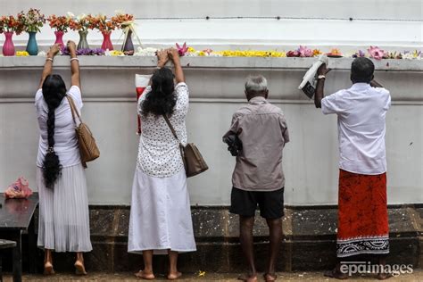
[[[38,247],[55,252],[91,251],[87,179],[82,164],[62,168],[54,189],[46,188],[43,171],[37,168],[37,187]]]

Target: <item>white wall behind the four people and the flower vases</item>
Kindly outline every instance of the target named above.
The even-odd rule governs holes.
[[[341,46],[343,52],[377,45],[388,49],[423,47],[422,1],[231,1],[225,0],[124,0],[124,1],[1,1],[0,14],[37,7],[46,14],[71,11],[132,12],[145,46],[170,46],[187,41],[195,47],[292,49],[300,44],[324,51]],[[204,19],[209,15],[211,20]],[[282,17],[274,19],[228,19],[228,17]],[[145,18],[162,18],[146,20]],[[353,21],[347,21],[352,17]],[[173,18],[173,19],[164,19]],[[191,18],[191,19],[182,19]],[[220,18],[220,19],[216,19]],[[120,34],[115,32],[114,43]],[[3,36],[0,35],[0,45]],[[42,46],[51,45],[54,34],[46,27],[37,35]],[[78,39],[70,32],[65,39]],[[91,32],[91,44],[101,36]],[[15,37],[18,46],[27,36]],[[135,41],[137,42],[137,41]],[[119,44],[116,44],[119,46]],[[33,95],[42,58],[0,58],[0,190],[25,175],[35,183],[37,120]],[[64,59],[64,58],[62,58]],[[90,203],[129,203],[137,155],[136,113],[133,78],[152,71],[152,64],[139,58],[84,58],[84,117],[95,132],[101,158],[89,164],[87,179]],[[150,60],[150,59],[148,59]],[[152,59],[153,60],[153,59]],[[202,61],[203,60],[203,61]],[[284,59],[280,59],[284,60]],[[191,104],[187,127],[211,169],[189,180],[192,203],[228,204],[230,174],[235,160],[220,141],[230,116],[244,103],[243,82],[251,72],[270,80],[270,95],[286,112],[292,143],[286,146],[286,203],[325,204],[337,199],[336,118],[324,117],[297,89],[305,68],[312,61],[276,59],[203,58],[187,69]],[[288,60],[288,59],[285,59]],[[119,62],[119,63],[117,63]],[[144,69],[136,69],[137,63]],[[276,63],[275,63],[276,62]],[[279,62],[290,62],[278,65]],[[333,71],[328,92],[348,87],[348,63]],[[110,67],[107,64],[111,63]],[[16,67],[13,65],[16,64]],[[69,71],[60,73],[69,77]],[[379,63],[377,77],[391,90],[394,105],[387,116],[389,203],[423,203],[423,80],[421,63],[396,61],[390,67]],[[236,66],[238,66],[236,68]],[[346,67],[345,67],[346,66]],[[382,68],[384,67],[384,68]],[[394,69],[396,68],[396,69]],[[417,68],[417,69],[416,69]],[[396,71],[394,71],[396,70]]]

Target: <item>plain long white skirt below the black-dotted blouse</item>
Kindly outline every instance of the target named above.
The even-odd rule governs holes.
[[[185,170],[154,178],[137,167],[132,185],[129,253],[194,252],[195,239]]]

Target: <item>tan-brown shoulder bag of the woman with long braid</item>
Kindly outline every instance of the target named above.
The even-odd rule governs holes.
[[[84,167],[87,168],[86,162],[91,162],[98,158],[100,156],[100,150],[98,150],[98,147],[95,144],[95,138],[93,137],[91,130],[89,130],[87,124],[82,122],[81,117],[79,116],[79,112],[73,103],[73,99],[70,95],[66,95],[66,98],[68,98],[69,104],[71,106],[72,118],[75,122],[75,131],[77,132],[78,137],[81,162]],[[79,119],[79,125],[77,124],[77,120],[75,120],[75,112],[77,113]]]

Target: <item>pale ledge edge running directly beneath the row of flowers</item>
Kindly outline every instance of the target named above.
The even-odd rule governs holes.
[[[273,58],[273,57],[182,57],[181,64],[192,69],[294,69],[310,68],[317,58]],[[333,70],[351,69],[352,58],[329,58],[328,66]],[[45,57],[0,57],[2,69],[42,68]],[[157,59],[153,56],[79,56],[81,69],[131,69],[154,68]],[[423,60],[373,60],[377,71],[423,71]],[[54,58],[54,68],[68,69],[68,56]]]

